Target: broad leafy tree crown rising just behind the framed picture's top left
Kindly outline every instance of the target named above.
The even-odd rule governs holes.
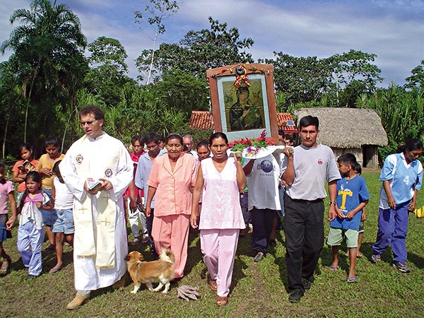
[[[218,66],[252,63],[252,55],[245,52],[254,43],[251,38],[240,40],[237,28],[228,29],[227,23],[219,23],[209,17],[210,29],[189,31],[179,43],[162,43],[156,51],[154,66],[160,72],[180,69],[196,77],[204,77],[206,69]],[[139,71],[149,61],[148,51],[136,59]]]

